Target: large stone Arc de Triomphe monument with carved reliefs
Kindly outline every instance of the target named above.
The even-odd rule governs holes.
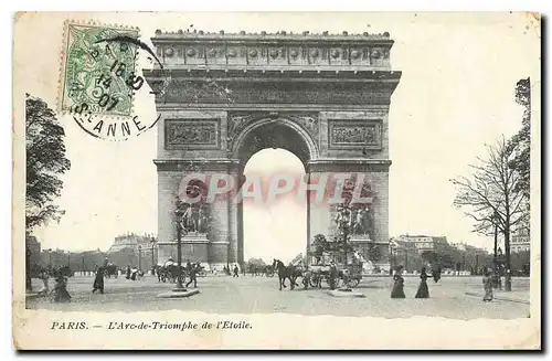
[[[155,160],[159,263],[176,257],[174,199],[183,176],[242,179],[250,157],[272,147],[295,153],[311,178],[365,176],[375,193],[370,232],[351,242],[365,252],[375,245],[375,264],[389,265],[388,115],[401,77],[391,71],[389,33],[157,31],[151,41],[163,65],[145,71],[161,115]],[[195,232],[183,238],[182,259],[242,264],[242,204],[221,199],[209,206],[208,226],[195,221]],[[336,205],[307,201],[306,244],[336,233],[335,212]]]

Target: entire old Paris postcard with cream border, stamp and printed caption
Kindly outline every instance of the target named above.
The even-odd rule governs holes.
[[[19,350],[540,350],[537,13],[20,12]]]

